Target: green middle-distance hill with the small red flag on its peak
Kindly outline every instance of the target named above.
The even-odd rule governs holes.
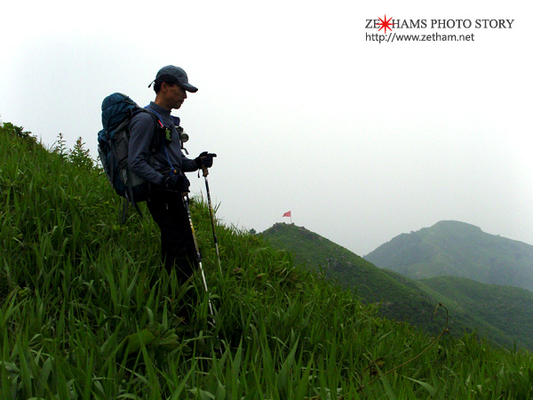
[[[447,224],[437,225],[444,228]],[[464,225],[473,236],[481,232],[480,228]],[[322,271],[327,278],[353,288],[365,302],[380,303],[384,316],[439,332],[442,314],[434,320],[434,308],[441,302],[449,309],[452,334],[475,331],[506,347],[516,344],[533,348],[533,292],[453,276],[411,280],[377,268],[346,248],[293,224],[278,223],[260,235],[274,248],[292,253],[296,264]]]

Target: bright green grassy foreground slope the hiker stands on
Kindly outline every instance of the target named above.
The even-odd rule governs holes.
[[[131,214],[120,226],[117,198],[83,152],[52,153],[4,124],[0,156],[0,398],[533,396],[529,353],[473,336],[435,343],[257,236],[219,225],[219,273],[200,201],[210,293],[195,276],[186,301],[161,267],[154,223]]]

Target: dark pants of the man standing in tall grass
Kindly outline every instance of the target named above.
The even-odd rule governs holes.
[[[183,284],[198,267],[195,242],[181,194],[152,187],[148,210],[161,229],[161,255],[170,274],[176,270]]]

